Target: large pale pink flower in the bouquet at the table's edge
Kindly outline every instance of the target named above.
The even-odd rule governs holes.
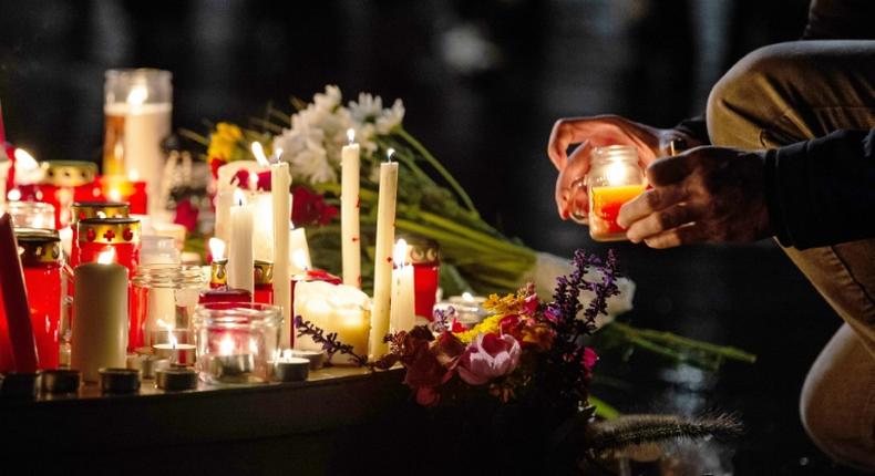
[[[459,376],[471,385],[482,385],[513,372],[521,353],[519,342],[512,335],[480,334],[459,359]]]

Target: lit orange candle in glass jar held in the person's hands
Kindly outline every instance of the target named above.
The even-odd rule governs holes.
[[[644,170],[635,147],[595,147],[586,176],[589,236],[596,241],[626,239],[626,229],[617,224],[617,215],[625,203],[645,190],[645,186]]]

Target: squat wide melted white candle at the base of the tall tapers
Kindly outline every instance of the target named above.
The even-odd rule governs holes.
[[[368,352],[370,307],[368,294],[352,286],[300,281],[295,287],[295,315],[312,322],[326,334],[337,332],[338,340],[352,345],[358,355]],[[319,351],[322,346],[302,337],[295,339],[295,349]],[[351,363],[351,359],[336,355],[332,362]]]

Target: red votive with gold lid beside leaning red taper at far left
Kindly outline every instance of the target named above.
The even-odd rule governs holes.
[[[61,239],[54,230],[18,229],[16,235],[40,369],[58,369],[63,300]]]

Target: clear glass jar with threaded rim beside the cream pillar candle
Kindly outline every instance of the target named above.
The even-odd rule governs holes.
[[[131,334],[137,342],[153,349],[158,344],[191,345],[197,297],[207,287],[200,267],[143,265],[131,282]]]

